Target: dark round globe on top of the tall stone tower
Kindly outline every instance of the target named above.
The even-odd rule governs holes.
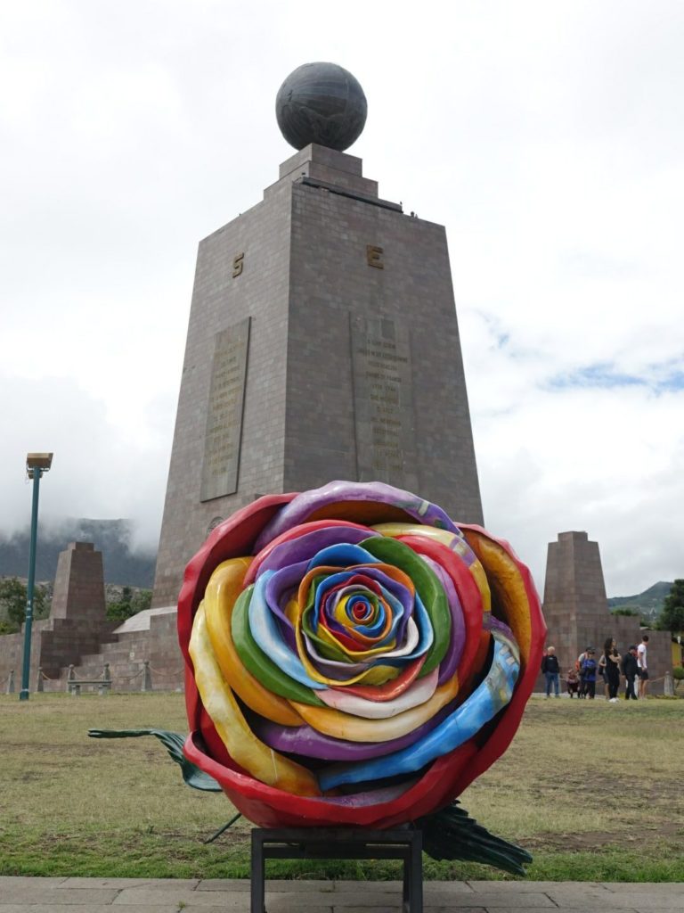
[[[317,142],[344,152],[361,135],[367,111],[358,79],[337,63],[297,67],[275,98],[278,126],[295,149]]]

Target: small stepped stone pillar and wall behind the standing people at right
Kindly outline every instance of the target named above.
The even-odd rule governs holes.
[[[601,655],[607,637],[615,637],[621,654],[638,645],[648,634],[649,693],[662,693],[664,677],[672,670],[670,635],[664,631],[642,632],[639,620],[611,614],[598,543],[586,532],[561,532],[549,542],[544,582],[544,618],[548,643],[556,648],[562,673],[575,663],[587,646]],[[538,689],[543,679],[540,677]]]

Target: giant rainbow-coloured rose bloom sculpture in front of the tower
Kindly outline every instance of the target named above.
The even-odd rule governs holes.
[[[264,827],[451,803],[512,740],[545,634],[507,543],[379,482],[236,512],[188,565],[178,625],[185,756]]]

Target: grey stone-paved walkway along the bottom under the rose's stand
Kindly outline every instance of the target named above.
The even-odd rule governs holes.
[[[269,881],[268,913],[398,913],[392,881]],[[427,913],[665,913],[684,910],[684,884],[430,881]],[[0,913],[248,913],[249,881],[0,876]]]

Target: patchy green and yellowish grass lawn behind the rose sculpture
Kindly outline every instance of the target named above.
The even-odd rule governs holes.
[[[248,877],[249,828],[220,793],[186,787],[151,738],[186,731],[180,694],[0,696],[0,875]],[[493,834],[534,855],[529,877],[680,881],[684,700],[608,704],[535,697],[513,745],[461,797]],[[271,862],[269,876],[396,878],[399,864]],[[433,862],[426,878],[506,878]]]

